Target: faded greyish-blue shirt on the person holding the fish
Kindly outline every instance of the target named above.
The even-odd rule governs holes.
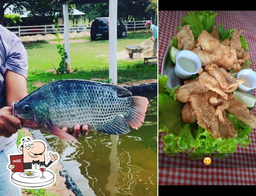
[[[6,106],[5,71],[12,70],[27,79],[27,57],[27,52],[19,38],[0,25],[0,108]],[[0,152],[15,144],[16,139],[17,133],[9,138],[0,136]]]

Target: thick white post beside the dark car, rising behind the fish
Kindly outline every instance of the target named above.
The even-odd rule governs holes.
[[[109,79],[117,84],[117,0],[109,0]]]

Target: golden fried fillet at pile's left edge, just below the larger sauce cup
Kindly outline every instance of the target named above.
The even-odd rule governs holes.
[[[188,98],[193,94],[202,94],[209,91],[209,88],[199,83],[198,80],[192,81],[178,88],[175,93],[177,100],[182,103],[188,102]]]

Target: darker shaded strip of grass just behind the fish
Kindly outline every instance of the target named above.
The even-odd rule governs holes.
[[[36,90],[38,87],[34,86],[35,83],[49,83],[63,79],[82,79],[107,82],[109,77],[109,70],[107,68],[102,69],[75,69],[76,72],[71,74],[54,74],[46,72],[44,70],[30,70],[28,73],[27,87],[28,92]],[[137,64],[125,65],[118,64],[117,66],[117,82],[122,84],[124,82],[138,82],[141,80],[157,79],[157,64],[143,64],[138,62]]]

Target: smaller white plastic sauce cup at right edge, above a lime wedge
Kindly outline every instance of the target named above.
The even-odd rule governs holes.
[[[250,69],[242,69],[237,74],[237,79],[239,79],[240,76],[246,77],[246,79],[251,83],[251,87],[247,87],[243,84],[240,84],[238,86],[239,91],[248,92],[251,89],[256,88],[256,73],[253,70]]]

